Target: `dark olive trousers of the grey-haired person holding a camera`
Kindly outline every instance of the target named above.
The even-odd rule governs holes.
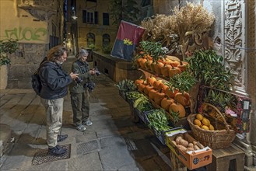
[[[73,123],[75,126],[86,122],[89,119],[89,92],[70,93],[73,110]]]

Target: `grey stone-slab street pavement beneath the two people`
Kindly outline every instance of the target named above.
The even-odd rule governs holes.
[[[70,96],[66,96],[61,134],[68,134],[68,138],[59,144],[71,144],[71,156],[37,166],[32,166],[33,156],[47,148],[40,98],[32,89],[1,90],[0,144],[2,137],[12,139],[1,157],[0,170],[171,170],[169,148],[144,124],[134,122],[115,82],[103,74],[95,82],[90,98],[93,125],[83,132],[75,130]],[[9,130],[10,136],[6,134]]]

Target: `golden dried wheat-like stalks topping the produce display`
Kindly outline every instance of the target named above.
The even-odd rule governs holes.
[[[187,49],[189,37],[202,37],[202,33],[210,30],[215,18],[202,5],[190,2],[181,9],[175,7],[173,13],[172,16],[156,15],[143,20],[141,26],[146,28],[143,40],[160,41],[164,46],[174,48],[176,40],[173,36],[177,34],[178,44]]]

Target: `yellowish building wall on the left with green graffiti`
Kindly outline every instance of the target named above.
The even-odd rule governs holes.
[[[18,40],[19,50],[10,56],[7,88],[30,89],[30,75],[50,47],[63,41],[64,1],[1,2],[1,40]]]

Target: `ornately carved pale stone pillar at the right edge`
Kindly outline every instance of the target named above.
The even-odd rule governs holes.
[[[251,132],[238,134],[235,143],[244,149],[245,166],[253,165],[252,145],[255,145],[255,11],[251,8],[254,1],[225,0],[223,1],[223,54],[226,68],[234,75],[233,92],[252,99]],[[249,10],[247,9],[249,7]],[[252,15],[252,16],[250,16]],[[248,19],[250,16],[251,19]],[[248,20],[247,20],[248,19]],[[254,25],[254,26],[253,26]],[[250,31],[251,30],[251,31]],[[254,32],[254,33],[253,33]],[[253,83],[254,82],[254,83]],[[254,136],[251,136],[254,134]],[[254,138],[254,139],[253,139]],[[255,152],[255,151],[254,151]]]

